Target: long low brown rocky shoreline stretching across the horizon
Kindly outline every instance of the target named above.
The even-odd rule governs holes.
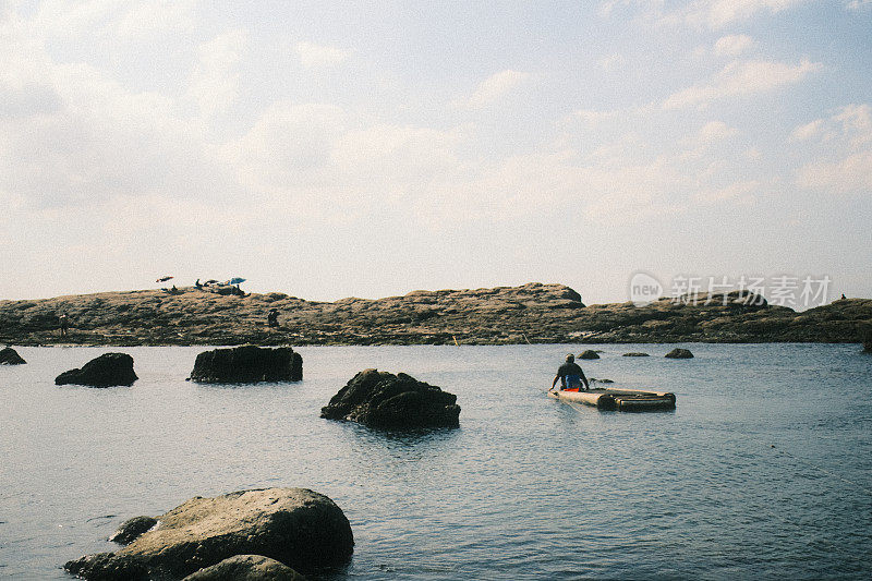
[[[412,291],[385,299],[306,301],[280,292],[183,287],[0,301],[0,343],[17,346],[370,346],[868,340],[871,299],[796,312],[732,291],[585,305],[564,285]],[[268,322],[271,310],[277,324]],[[61,315],[69,330],[61,336]],[[271,324],[270,324],[271,323]]]

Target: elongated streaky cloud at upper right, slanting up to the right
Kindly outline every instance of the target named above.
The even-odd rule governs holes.
[[[717,99],[766,93],[796,84],[821,68],[821,63],[804,59],[797,65],[777,61],[735,61],[707,83],[674,93],[664,101],[663,107],[705,107]]]

